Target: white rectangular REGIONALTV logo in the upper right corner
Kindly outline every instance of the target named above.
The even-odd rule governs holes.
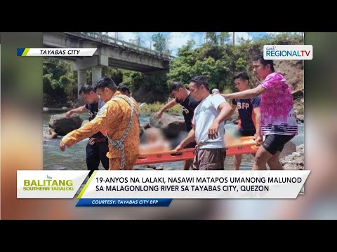
[[[312,45],[263,45],[264,59],[312,59]]]

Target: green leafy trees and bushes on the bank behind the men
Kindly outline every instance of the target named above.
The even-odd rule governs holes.
[[[163,53],[170,52],[168,37],[154,34],[152,40],[154,42],[152,49]],[[139,36],[135,43],[142,44]],[[190,40],[178,50],[178,57],[171,60],[167,74],[140,73],[104,67],[102,75],[111,77],[117,85],[128,85],[134,94],[143,90],[139,92],[138,97],[135,96],[138,102],[147,102],[147,96],[151,96],[151,101],[153,99],[160,101],[162,99],[159,97],[167,96],[169,93],[169,85],[173,80],[188,85],[192,76],[201,74],[209,78],[210,89],[218,88],[220,92],[225,90],[231,92],[234,91],[232,76],[237,71],[246,71],[251,77],[251,83],[256,83],[251,74],[251,58],[263,52],[265,44],[303,44],[303,36],[284,33],[265,36],[254,41],[241,41],[233,45],[229,33],[207,32],[204,45],[195,48],[195,42]],[[303,69],[303,61],[296,64],[301,64]],[[92,84],[91,70],[87,71],[86,82]],[[77,99],[77,72],[72,71],[71,62],[53,58],[44,59],[44,94],[58,102]]]

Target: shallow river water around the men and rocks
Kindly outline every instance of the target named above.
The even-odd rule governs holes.
[[[57,112],[56,112],[57,113]],[[43,113],[43,132],[48,129],[48,123],[51,115],[55,114],[44,112]],[[81,118],[86,120],[88,118],[87,113],[81,114]],[[140,116],[140,123],[149,121],[150,116]],[[233,132],[237,128],[237,125],[226,124],[226,132]],[[304,125],[298,124],[298,135],[294,137],[293,141],[296,146],[303,144],[304,142]],[[58,139],[44,140],[44,169],[46,170],[84,170],[86,169],[86,144],[88,139],[84,139],[72,146],[72,148],[66,148],[65,152],[60,151],[59,144],[62,137]],[[233,157],[227,156],[225,159],[225,169],[232,169]],[[242,164],[240,169],[249,170],[253,165],[252,155],[242,155]],[[183,169],[183,162],[166,162],[156,164],[156,167],[164,167],[164,169]],[[134,169],[146,169],[146,165],[134,167]],[[100,165],[99,169],[104,169]]]

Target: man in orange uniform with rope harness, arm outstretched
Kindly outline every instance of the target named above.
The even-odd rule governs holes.
[[[95,92],[105,105],[97,116],[83,127],[68,133],[60,142],[60,150],[90,137],[100,130],[106,130],[109,139],[109,169],[130,170],[135,165],[139,150],[139,108],[126,95],[117,91],[111,78],[101,78],[95,85]]]

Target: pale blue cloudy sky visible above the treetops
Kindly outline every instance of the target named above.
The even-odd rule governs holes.
[[[143,41],[146,48],[150,48],[151,45],[151,36],[157,34],[158,32],[119,32],[119,39],[123,41],[130,41],[136,38],[139,34],[141,41]],[[172,50],[171,55],[176,56],[178,48],[181,48],[187,43],[190,39],[194,39],[196,46],[202,45],[204,43],[205,32],[160,32],[165,37],[170,37],[169,48]],[[235,41],[239,41],[239,38],[244,38],[247,40],[254,40],[256,38],[261,38],[267,34],[279,34],[280,32],[235,32]],[[109,36],[115,37],[115,32],[109,32]],[[232,36],[232,32],[230,33]],[[153,47],[152,47],[153,49]]]

